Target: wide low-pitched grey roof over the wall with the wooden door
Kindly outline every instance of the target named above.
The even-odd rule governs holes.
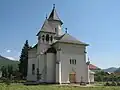
[[[86,43],[83,43],[83,42],[77,40],[75,37],[71,36],[68,33],[65,33],[64,35],[62,35],[57,42],[72,43],[72,44],[81,44],[81,45],[86,45],[86,46],[88,45]]]

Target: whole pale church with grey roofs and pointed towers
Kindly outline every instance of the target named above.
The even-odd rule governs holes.
[[[43,83],[89,82],[88,44],[62,30],[55,5],[37,33],[38,42],[28,51],[27,81]]]

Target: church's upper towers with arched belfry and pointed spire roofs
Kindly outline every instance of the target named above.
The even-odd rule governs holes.
[[[60,36],[62,32],[63,22],[58,17],[58,14],[55,9],[55,4],[53,4],[53,9],[49,17],[44,21],[40,31],[38,32],[38,42],[41,44],[51,44],[54,41],[55,36]]]

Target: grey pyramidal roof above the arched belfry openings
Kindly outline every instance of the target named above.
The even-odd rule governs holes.
[[[40,32],[55,33],[55,30],[52,29],[52,27],[50,26],[48,20],[46,19],[46,20],[44,21],[44,24],[43,24],[41,30],[38,32],[37,36],[39,35]]]

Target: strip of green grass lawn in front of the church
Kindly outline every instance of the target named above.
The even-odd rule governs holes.
[[[120,90],[120,87],[80,87],[80,86],[56,86],[56,85],[35,85],[35,86],[25,86],[22,84],[12,84],[6,86],[5,84],[0,84],[0,90]]]

